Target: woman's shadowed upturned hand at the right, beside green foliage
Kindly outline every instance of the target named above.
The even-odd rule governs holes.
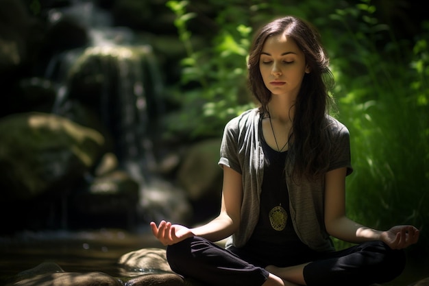
[[[393,226],[383,231],[380,239],[392,249],[402,249],[419,240],[420,231],[414,226]]]

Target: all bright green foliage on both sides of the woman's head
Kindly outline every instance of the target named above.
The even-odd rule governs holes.
[[[398,40],[371,0],[234,2],[208,1],[219,11],[217,30],[204,49],[194,51],[186,26],[196,16],[186,12],[191,2],[169,1],[187,52],[180,91],[186,111],[175,126],[182,123],[195,137],[220,136],[226,120],[252,106],[240,97],[247,93],[243,78],[252,30],[280,15],[309,19],[330,54],[335,116],[351,134],[347,214],[380,229],[414,224],[422,230],[416,249],[428,254],[429,23],[421,23],[424,32],[414,40]]]

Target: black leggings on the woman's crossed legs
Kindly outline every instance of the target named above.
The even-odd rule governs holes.
[[[269,272],[245,261],[201,237],[191,237],[167,247],[171,270],[204,285],[260,286]],[[405,267],[403,250],[391,250],[381,241],[371,241],[345,250],[319,254],[304,267],[307,285],[356,285],[385,283],[399,276]]]

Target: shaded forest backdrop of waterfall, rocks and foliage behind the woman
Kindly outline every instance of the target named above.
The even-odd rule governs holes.
[[[407,254],[415,277],[428,274],[429,19],[421,5],[0,0],[4,275],[35,249],[49,254],[52,241],[115,248],[119,229],[131,235],[117,248],[125,252],[156,245],[152,219],[199,224],[216,215],[223,126],[253,106],[249,40],[284,14],[313,23],[331,57],[332,115],[352,136],[347,213],[374,228],[420,228]],[[106,254],[100,249],[96,257]]]

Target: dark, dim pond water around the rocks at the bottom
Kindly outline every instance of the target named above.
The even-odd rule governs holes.
[[[140,248],[164,248],[149,227],[127,232],[120,229],[82,231],[24,231],[0,236],[0,285],[23,270],[53,262],[65,272],[103,272],[114,277],[136,276],[117,265],[127,252]],[[408,261],[404,273],[389,286],[406,286],[429,276],[427,263]]]

